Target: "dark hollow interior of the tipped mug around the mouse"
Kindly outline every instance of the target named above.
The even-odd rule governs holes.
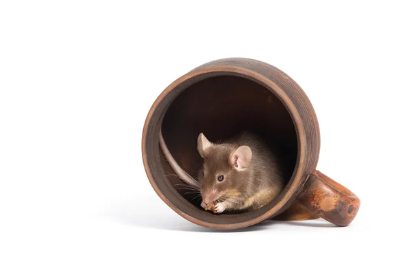
[[[195,217],[201,223],[250,221],[279,203],[291,186],[299,164],[295,121],[277,93],[255,78],[215,72],[172,84],[151,114],[151,120],[146,137],[149,170],[162,199],[180,214]],[[158,145],[160,127],[171,155],[195,179],[202,167],[197,151],[200,133],[211,142],[218,142],[242,131],[252,131],[277,152],[288,184],[281,195],[257,210],[226,214],[207,212],[200,207],[199,194],[184,188],[162,154]]]

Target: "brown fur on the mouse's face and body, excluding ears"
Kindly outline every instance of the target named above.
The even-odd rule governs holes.
[[[253,155],[246,168],[237,170],[231,163],[231,156],[243,145],[249,146]],[[202,155],[204,164],[198,179],[202,197],[216,190],[220,201],[231,203],[227,210],[260,208],[277,197],[285,186],[277,157],[252,133],[243,133],[224,143],[213,143]],[[219,175],[224,175],[223,181],[218,181]]]

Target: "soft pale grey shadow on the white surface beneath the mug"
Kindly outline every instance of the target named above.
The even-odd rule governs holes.
[[[337,227],[323,219],[311,221],[274,221],[267,220],[248,228],[237,230],[216,230],[204,228],[195,223],[191,223],[180,217],[171,210],[165,203],[157,197],[143,197],[129,199],[123,203],[112,203],[102,213],[105,219],[110,219],[118,223],[138,226],[141,228],[156,228],[160,230],[173,230],[184,232],[253,232],[260,230],[293,230],[292,227],[311,227],[311,228],[334,228]]]

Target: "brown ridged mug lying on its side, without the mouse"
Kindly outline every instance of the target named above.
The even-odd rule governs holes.
[[[253,131],[277,150],[288,184],[266,205],[248,212],[213,214],[200,207],[159,146],[160,130],[171,155],[189,175],[202,165],[197,137],[211,142]],[[320,135],[304,91],[281,70],[250,58],[224,58],[196,67],[171,83],[153,103],[142,132],[142,159],[158,196],[193,223],[222,230],[246,228],[266,219],[321,217],[346,226],[360,200],[316,170]]]

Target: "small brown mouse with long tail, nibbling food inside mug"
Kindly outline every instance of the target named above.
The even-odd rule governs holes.
[[[160,147],[174,172],[184,183],[199,190],[201,207],[214,213],[256,210],[277,197],[286,181],[279,157],[254,133],[245,131],[223,142],[198,135],[203,159],[198,180],[173,159],[160,133]]]

